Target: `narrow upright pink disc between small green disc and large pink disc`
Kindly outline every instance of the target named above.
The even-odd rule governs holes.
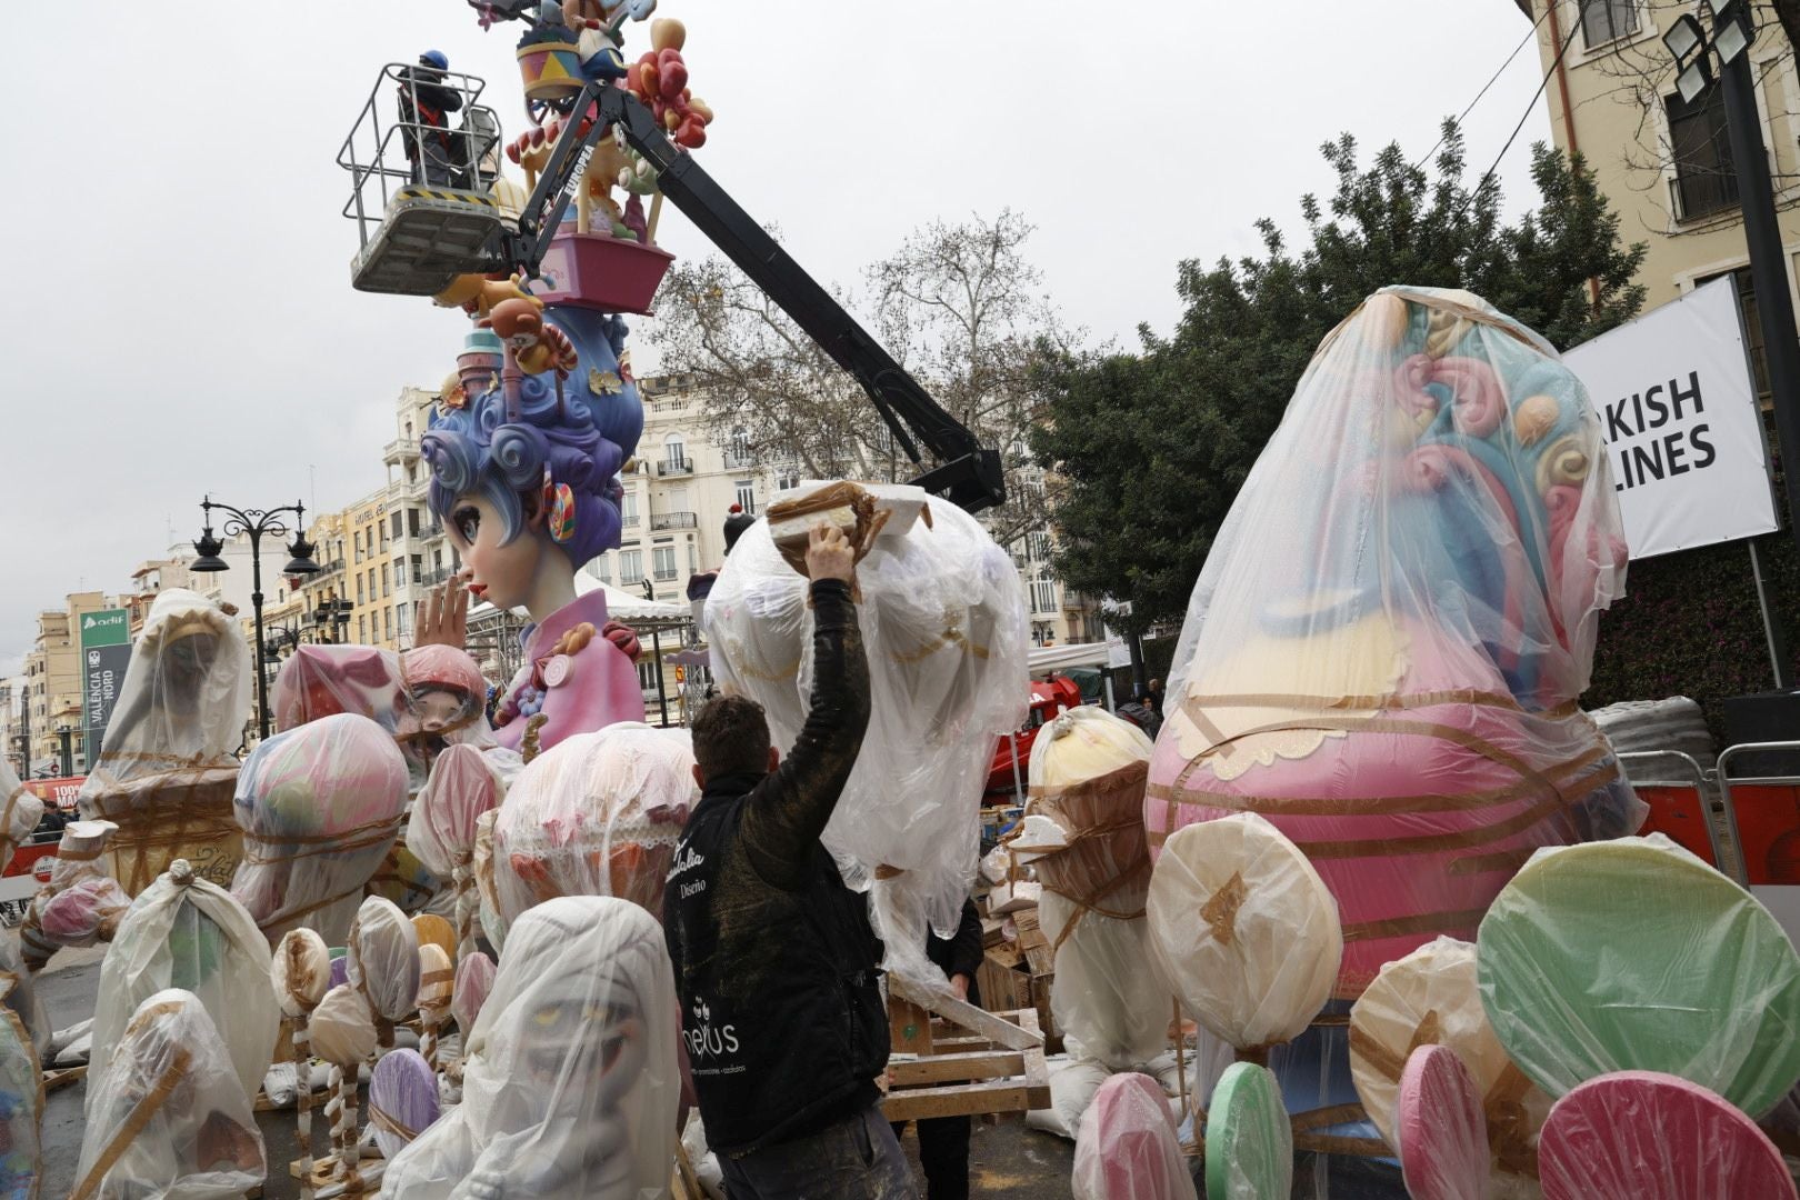
[[[1420,1045],[1400,1072],[1400,1169],[1413,1200],[1487,1195],[1487,1117],[1474,1076],[1447,1045]]]

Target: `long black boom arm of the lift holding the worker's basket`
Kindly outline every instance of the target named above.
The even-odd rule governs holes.
[[[592,121],[576,119],[565,126],[518,218],[518,234],[508,236],[511,245],[506,246],[506,257],[518,270],[527,277],[536,273],[594,146],[608,126],[617,124],[632,149],[657,169],[657,187],[670,203],[862,385],[905,455],[920,464],[923,446],[938,459],[936,468],[913,480],[914,486],[970,513],[1004,504],[1006,480],[999,452],[983,446],[974,432],[945,412],[830,291],[751,219],[693,155],[677,149],[635,95],[625,88],[589,83],[571,112],[592,113]]]

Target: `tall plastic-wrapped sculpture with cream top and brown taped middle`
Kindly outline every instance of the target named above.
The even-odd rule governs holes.
[[[1039,921],[1057,948],[1049,1002],[1057,1025],[1114,1070],[1143,1067],[1168,1047],[1170,993],[1143,970],[1148,763],[1150,739],[1129,721],[1098,707],[1064,712],[1031,743],[1031,801],[1013,842],[1035,844],[1037,817],[1055,822],[1062,847],[1031,855],[1044,885]]]

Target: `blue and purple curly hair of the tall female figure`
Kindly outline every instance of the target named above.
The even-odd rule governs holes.
[[[526,531],[549,484],[572,500],[567,536],[553,542],[580,569],[619,545],[619,468],[637,448],[644,408],[637,385],[619,371],[625,322],[616,315],[556,306],[545,320],[569,335],[580,367],[556,396],[556,376],[526,376],[518,419],[493,383],[470,389],[463,408],[439,408],[419,439],[432,470],[430,509],[445,522],[457,497],[479,495],[500,515],[502,545]]]

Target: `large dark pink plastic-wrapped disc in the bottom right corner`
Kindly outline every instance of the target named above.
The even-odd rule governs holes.
[[[1793,1200],[1757,1123],[1714,1092],[1654,1070],[1582,1083],[1544,1124],[1544,1200]]]

